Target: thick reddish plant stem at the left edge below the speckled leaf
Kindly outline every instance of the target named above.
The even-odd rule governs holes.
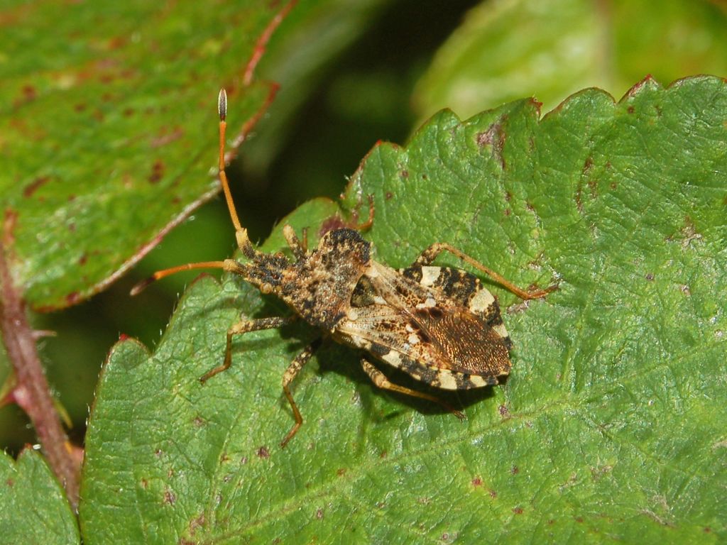
[[[60,423],[43,367],[36,350],[36,334],[25,315],[25,302],[12,282],[7,259],[12,246],[12,220],[6,215],[0,238],[0,331],[15,371],[12,398],[25,411],[36,429],[48,463],[63,483],[73,509],[79,503],[79,464],[73,457]]]

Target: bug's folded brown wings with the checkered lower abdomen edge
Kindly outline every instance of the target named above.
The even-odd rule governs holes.
[[[344,342],[446,389],[495,384],[510,371],[509,338],[481,315],[384,265],[370,273],[372,304],[337,326]]]

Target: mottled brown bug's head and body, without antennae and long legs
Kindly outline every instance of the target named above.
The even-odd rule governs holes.
[[[497,300],[475,276],[419,259],[393,270],[371,259],[371,243],[353,229],[326,233],[312,252],[285,233],[297,261],[252,250],[233,272],[337,342],[444,389],[497,384],[510,371]]]

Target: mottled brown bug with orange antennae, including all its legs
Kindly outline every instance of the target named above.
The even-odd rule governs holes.
[[[134,286],[132,295],[149,283],[180,270],[220,268],[240,275],[263,294],[282,299],[294,314],[287,317],[242,320],[227,332],[225,359],[200,377],[206,382],[232,364],[235,336],[278,328],[302,318],[321,330],[321,337],[297,355],[283,375],[283,392],[295,423],[284,437],[284,447],[297,433],[302,416],[290,384],[321,344],[324,336],[364,350],[366,374],[379,388],[439,403],[460,419],[464,415],[426,392],[390,382],[371,363],[377,359],[406,371],[420,382],[448,390],[497,384],[510,372],[510,336],[502,323],[497,299],[475,275],[449,267],[433,267],[443,251],[462,259],[522,299],[537,299],[557,286],[526,291],[446,243],[434,243],[410,267],[394,270],[371,259],[371,243],[358,230],[340,228],[323,235],[316,249],[308,249],[289,225],[283,234],[293,260],[284,254],[257,250],[241,226],[225,174],[227,94],[220,91],[220,183],[245,260],[189,263],[154,273]],[[370,218],[371,220],[371,218]]]

